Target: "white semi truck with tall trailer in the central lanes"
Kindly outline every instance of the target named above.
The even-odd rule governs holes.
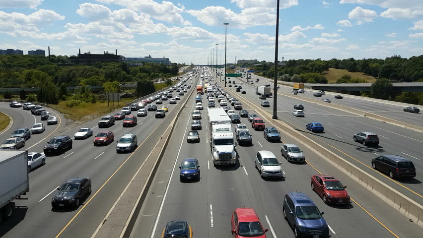
[[[231,119],[223,108],[208,108],[211,154],[214,165],[235,165],[236,151]]]

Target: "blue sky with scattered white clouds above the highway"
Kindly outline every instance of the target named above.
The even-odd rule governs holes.
[[[276,0],[0,0],[0,49],[274,60]],[[223,54],[222,54],[223,53]],[[215,54],[215,53],[214,53]],[[279,59],[423,54],[422,0],[281,0]],[[214,58],[215,59],[215,58]]]

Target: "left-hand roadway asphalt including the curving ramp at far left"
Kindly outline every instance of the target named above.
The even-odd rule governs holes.
[[[97,127],[98,119],[95,119],[78,127],[68,128],[68,131],[58,130],[49,135],[47,140],[59,134],[73,137],[78,128],[91,127],[94,129],[94,136],[99,131],[113,131],[117,141],[126,133],[135,133],[138,136],[138,148],[133,153],[117,154],[115,141],[106,146],[93,147],[93,137],[89,137],[85,140],[73,140],[73,148],[62,155],[48,156],[46,165],[30,172],[30,192],[27,194],[27,200],[15,200],[17,208],[12,218],[0,224],[0,237],[91,237],[193,88],[195,87],[180,96],[181,100],[178,100],[176,105],[168,105],[168,101],[163,101],[163,105],[169,107],[164,119],[155,119],[154,112],[148,112],[147,117],[138,118],[138,124],[134,127],[123,127],[121,121],[116,121],[110,128],[101,129]],[[173,92],[173,95],[177,94],[179,93]],[[2,112],[15,119],[13,128],[30,127],[39,118],[38,116],[34,119],[22,109],[8,108],[5,103],[0,106]],[[132,115],[136,113],[132,112]],[[49,129],[46,132],[32,135],[28,140],[30,143],[23,149],[28,149],[28,152],[43,151],[47,140],[41,141],[41,137],[53,132],[55,126],[47,127]],[[1,136],[3,138],[5,135]],[[37,141],[40,143],[35,144]],[[30,147],[32,143],[34,146]],[[77,209],[52,210],[51,199],[57,191],[56,188],[72,177],[90,178],[92,193]]]

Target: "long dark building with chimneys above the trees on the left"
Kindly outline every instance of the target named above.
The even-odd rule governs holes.
[[[104,54],[91,54],[91,52],[87,52],[81,54],[81,50],[79,49],[78,56],[71,56],[70,62],[72,64],[86,64],[91,65],[96,62],[121,62],[124,60],[125,57],[118,56],[118,50],[116,50],[115,54],[110,54],[109,52],[104,52]]]

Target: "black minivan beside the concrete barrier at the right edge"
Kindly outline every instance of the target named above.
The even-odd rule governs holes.
[[[384,155],[371,160],[373,169],[388,173],[391,179],[416,177],[413,162],[399,155]]]

